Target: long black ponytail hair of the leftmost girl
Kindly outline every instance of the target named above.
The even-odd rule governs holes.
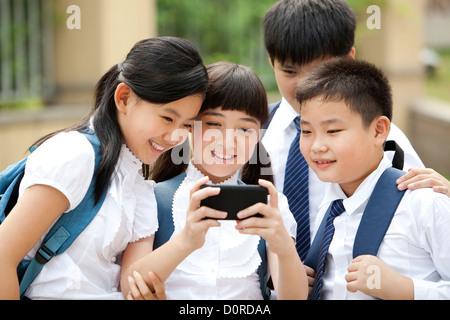
[[[96,172],[96,201],[111,179],[123,143],[114,101],[116,88],[122,82],[140,99],[166,104],[194,94],[204,95],[208,75],[198,50],[191,42],[176,37],[141,40],[123,62],[112,66],[100,78],[95,88],[94,108],[85,120],[50,133],[34,143],[40,145],[60,132],[86,131],[92,119],[102,149],[102,159]],[[144,167],[144,172],[148,174],[148,167]]]

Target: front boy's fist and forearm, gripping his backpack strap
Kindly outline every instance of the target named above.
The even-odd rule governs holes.
[[[361,291],[381,299],[414,298],[412,280],[400,275],[375,256],[358,256],[347,270],[345,280],[350,292]]]

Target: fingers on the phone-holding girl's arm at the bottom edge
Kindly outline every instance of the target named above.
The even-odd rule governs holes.
[[[130,291],[128,300],[166,300],[164,283],[153,272],[148,273],[151,283],[147,285],[140,273],[134,271],[133,276],[128,277]]]

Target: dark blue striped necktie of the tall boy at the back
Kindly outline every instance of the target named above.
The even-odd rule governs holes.
[[[297,135],[289,149],[283,193],[297,222],[295,246],[302,261],[310,246],[308,164],[300,152],[300,117],[294,119]]]

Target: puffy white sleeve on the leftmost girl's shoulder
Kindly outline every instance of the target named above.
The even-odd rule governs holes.
[[[86,195],[95,167],[95,153],[79,132],[63,132],[45,141],[29,157],[19,196],[33,185],[47,185],[60,191],[73,210]]]

